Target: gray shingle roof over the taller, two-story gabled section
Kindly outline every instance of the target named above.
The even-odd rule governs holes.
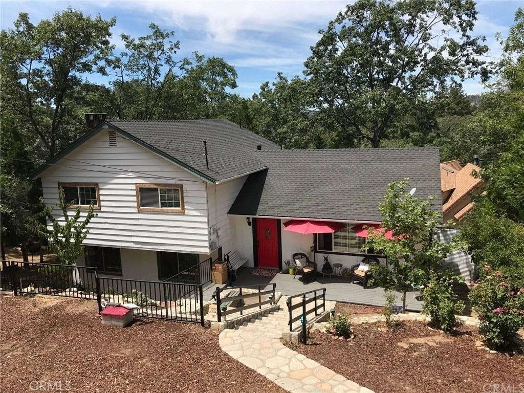
[[[246,128],[225,119],[205,120],[110,120],[110,125],[155,147],[185,165],[220,181],[267,168],[256,155],[280,147]],[[209,169],[204,144],[208,144]]]

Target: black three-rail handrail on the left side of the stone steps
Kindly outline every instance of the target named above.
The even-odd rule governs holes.
[[[270,290],[262,290],[266,287],[271,286],[272,288]],[[276,283],[270,283],[266,285],[252,285],[252,286],[245,286],[245,287],[216,287],[215,293],[216,293],[216,319],[219,322],[222,322],[222,316],[230,315],[236,312],[240,312],[241,315],[243,315],[245,310],[249,310],[255,307],[258,307],[259,310],[262,309],[262,306],[265,304],[273,304],[275,302],[275,290],[277,288]],[[221,292],[224,290],[231,290],[230,294],[232,296],[226,296],[224,298],[221,297]],[[242,293],[242,289],[257,289],[256,292],[244,292]],[[262,300],[263,296],[267,296],[267,300]],[[258,302],[251,303],[251,304],[245,304],[241,305],[241,307],[235,307],[231,310],[227,310],[225,308],[222,310],[222,305],[225,304],[226,306],[234,301],[243,301],[247,298],[256,298],[258,297]]]

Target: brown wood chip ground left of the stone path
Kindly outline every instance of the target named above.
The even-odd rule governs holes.
[[[0,308],[6,393],[31,391],[31,381],[89,393],[285,391],[224,353],[200,325],[105,326],[94,301],[41,295],[4,296]]]

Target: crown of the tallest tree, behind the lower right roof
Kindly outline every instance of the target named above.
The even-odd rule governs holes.
[[[448,80],[486,77],[478,57],[487,51],[484,38],[471,35],[476,15],[472,1],[347,5],[320,31],[305,62],[316,110],[373,147],[406,117],[431,118],[435,108],[427,97]],[[435,34],[437,29],[446,32]]]

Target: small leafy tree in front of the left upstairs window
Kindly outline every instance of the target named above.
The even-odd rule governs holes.
[[[65,202],[62,189],[59,191],[59,199],[58,206],[63,216],[63,219],[60,220],[53,216],[53,206],[47,206],[43,198],[41,200],[43,206],[42,215],[51,222],[52,231],[49,232],[45,225],[40,224],[35,219],[30,220],[28,229],[49,240],[49,249],[57,254],[60,263],[73,265],[77,258],[82,255],[82,243],[89,233],[87,226],[97,214],[94,212],[91,204],[85,212],[85,216],[83,216],[80,206],[74,208],[74,214],[70,215],[69,210],[71,210],[71,206]],[[63,224],[61,223],[62,221]]]

